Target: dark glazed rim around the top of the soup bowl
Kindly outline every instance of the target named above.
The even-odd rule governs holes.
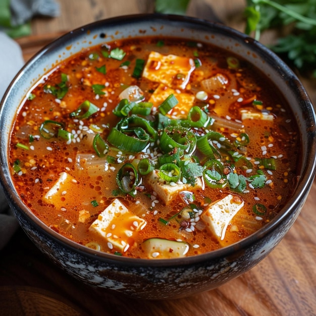
[[[106,20],[97,21],[94,23],[87,24],[80,28],[77,28],[73,31],[66,33],[65,35],[59,37],[55,41],[49,43],[44,48],[42,48],[35,56],[33,56],[20,70],[20,72],[16,75],[13,79],[12,83],[10,84],[9,88],[7,89],[4,98],[1,102],[1,110],[0,110],[0,117],[2,117],[3,112],[3,104],[5,103],[6,98],[10,94],[10,90],[14,83],[19,80],[24,73],[24,71],[28,68],[29,65],[34,63],[37,59],[41,58],[42,55],[45,54],[46,51],[54,48],[54,46],[65,46],[63,43],[67,43],[71,40],[71,38],[76,37],[76,35],[80,35],[82,33],[88,33],[93,29],[100,29],[101,26],[123,26],[128,25],[130,23],[134,23],[137,21],[150,22],[152,21],[159,21],[159,22],[168,22],[168,23],[177,23],[183,27],[190,27],[190,25],[200,26],[202,29],[208,28],[209,30],[216,30],[217,34],[224,34],[225,36],[233,37],[235,40],[239,42],[243,42],[244,44],[249,44],[249,49],[255,52],[261,58],[264,58],[267,63],[274,65],[275,68],[278,70],[279,74],[284,77],[284,80],[288,80],[288,84],[294,89],[297,95],[297,99],[301,99],[302,106],[307,109],[304,117],[308,118],[311,122],[310,130],[308,134],[310,136],[307,137],[307,148],[310,148],[310,152],[306,154],[308,165],[306,167],[301,166],[301,170],[303,171],[299,181],[297,188],[295,190],[295,194],[290,198],[290,200],[286,203],[285,207],[281,212],[267,225],[263,228],[258,230],[257,232],[253,233],[249,237],[233,244],[230,246],[226,246],[222,249],[214,250],[212,252],[199,254],[196,256],[190,256],[185,258],[174,258],[174,259],[137,259],[137,258],[129,258],[124,256],[117,256],[114,254],[109,254],[105,252],[98,252],[93,249],[87,248],[83,245],[80,245],[74,241],[63,237],[62,235],[58,234],[57,232],[51,230],[45,224],[40,222],[31,212],[27,209],[27,207],[22,203],[19,199],[18,195],[13,194],[10,192],[12,190],[12,184],[8,183],[8,177],[10,177],[10,173],[5,168],[5,161],[7,160],[7,152],[1,152],[1,170],[0,170],[0,180],[4,187],[5,193],[9,200],[10,205],[16,209],[20,208],[21,210],[16,210],[16,212],[23,212],[24,216],[26,216],[32,223],[38,228],[42,233],[46,234],[53,238],[56,242],[64,245],[64,247],[72,248],[74,251],[80,252],[86,256],[90,256],[93,258],[97,258],[100,261],[107,261],[107,262],[115,262],[118,265],[127,265],[127,266],[145,266],[145,267],[178,267],[178,266],[186,266],[186,265],[194,265],[200,262],[205,261],[212,261],[217,258],[224,258],[233,255],[236,252],[243,251],[247,249],[252,244],[256,243],[256,241],[260,240],[264,236],[270,234],[272,231],[278,228],[278,226],[282,225],[282,222],[285,218],[291,217],[295,210],[299,207],[302,203],[302,200],[306,198],[306,192],[310,189],[312,184],[314,175],[315,175],[315,153],[316,153],[316,142],[312,142],[312,139],[316,137],[316,127],[315,127],[315,114],[313,111],[313,107],[311,101],[306,94],[304,88],[301,86],[296,75],[289,69],[289,67],[279,59],[270,49],[266,46],[262,45],[261,43],[255,41],[253,38],[248,37],[247,35],[229,28],[225,25],[210,22],[207,20],[202,20],[198,18],[192,17],[185,17],[185,16],[178,16],[178,15],[160,15],[160,14],[138,14],[138,15],[129,15],[129,16],[119,16],[115,18],[109,18]]]

